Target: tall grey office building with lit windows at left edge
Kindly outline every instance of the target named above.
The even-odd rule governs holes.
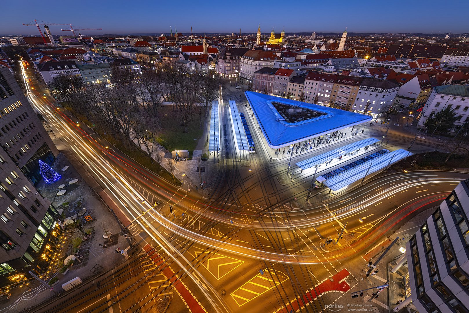
[[[0,68],[0,286],[47,268],[47,244],[57,236],[57,211],[35,188],[38,161],[52,164],[58,150],[6,67]],[[50,246],[49,246],[50,247]]]

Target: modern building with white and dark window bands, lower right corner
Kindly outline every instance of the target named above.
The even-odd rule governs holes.
[[[410,297],[394,312],[406,312],[403,307],[408,305],[419,313],[468,312],[468,217],[469,180],[465,180],[406,244]]]

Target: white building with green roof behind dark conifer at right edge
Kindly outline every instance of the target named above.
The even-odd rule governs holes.
[[[427,102],[422,109],[418,120],[418,127],[424,126],[424,122],[443,108],[451,107],[454,109],[457,120],[457,126],[469,122],[469,85],[443,85],[433,87]],[[453,129],[453,131],[456,130]]]

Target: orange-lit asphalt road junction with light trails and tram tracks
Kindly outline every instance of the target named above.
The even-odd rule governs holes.
[[[281,185],[276,177],[286,173],[287,160],[270,163],[272,152],[261,145],[257,132],[257,153],[240,160],[231,127],[227,127],[227,140],[221,148],[228,149],[228,158],[221,153],[217,188],[203,196],[141,168],[80,121],[77,126],[74,116],[35,91],[28,92],[31,103],[128,221],[148,210],[155,199],[164,203],[129,227],[137,241],[157,251],[148,254],[163,261],[150,260],[148,254],[130,260],[121,272],[99,281],[101,287],[106,286],[105,292],[104,287],[91,288],[68,310],[138,312],[135,310],[154,307],[169,290],[175,292],[172,312],[186,312],[192,295],[203,307],[191,303],[193,312],[289,312],[310,301],[320,310],[342,293],[319,294],[327,288],[347,291],[359,275],[353,264],[363,263],[360,258],[383,238],[413,214],[438,205],[458,181],[468,177],[433,171],[393,174],[328,201],[327,207],[295,209],[293,198],[304,197],[309,182]],[[227,100],[242,101],[242,95],[228,88],[222,88],[220,94],[221,125],[229,126]],[[239,108],[249,114],[243,105]],[[255,123],[249,123],[255,128]],[[386,130],[373,131],[369,136]],[[389,130],[388,137],[390,144],[407,145],[415,135]],[[419,149],[433,149],[431,144],[417,142]],[[176,205],[174,215],[169,214],[169,204]],[[325,239],[336,238],[345,223],[348,233],[354,233],[349,237],[351,244],[325,245]],[[325,283],[339,274],[337,282],[349,282],[348,287]],[[317,289],[311,290],[314,287]],[[192,295],[184,295],[187,291]]]

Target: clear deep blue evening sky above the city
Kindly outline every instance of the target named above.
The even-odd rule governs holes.
[[[102,28],[82,34],[238,33],[261,31],[288,32],[413,32],[468,33],[468,0],[394,0],[394,1],[122,1],[101,0],[69,2],[47,0],[4,0],[0,35],[36,34],[37,28],[23,23],[45,21],[68,23],[74,28]],[[446,3],[446,5],[445,5]],[[135,6],[132,6],[135,4]],[[38,22],[39,23],[39,22]],[[64,26],[50,26],[62,36]]]

